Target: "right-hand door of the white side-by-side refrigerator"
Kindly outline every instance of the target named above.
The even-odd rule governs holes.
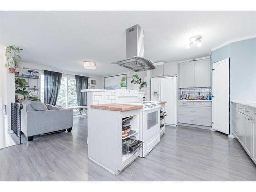
[[[161,78],[161,101],[165,103],[165,124],[177,125],[177,77]]]

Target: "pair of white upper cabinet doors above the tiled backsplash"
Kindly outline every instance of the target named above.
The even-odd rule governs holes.
[[[180,63],[180,88],[210,87],[210,59]]]

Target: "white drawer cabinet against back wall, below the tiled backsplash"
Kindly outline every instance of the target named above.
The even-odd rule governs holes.
[[[200,126],[210,129],[211,102],[210,101],[178,101],[178,122],[180,125]]]

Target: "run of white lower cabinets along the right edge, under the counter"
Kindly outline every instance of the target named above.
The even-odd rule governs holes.
[[[256,108],[232,102],[233,135],[256,163]]]

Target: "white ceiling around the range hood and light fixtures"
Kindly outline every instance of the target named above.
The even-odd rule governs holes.
[[[22,47],[24,62],[103,76],[126,71],[110,63],[126,58],[126,28],[135,24],[144,29],[144,57],[171,62],[256,35],[255,23],[255,11],[0,11],[0,44]],[[186,49],[194,35],[202,47]]]

